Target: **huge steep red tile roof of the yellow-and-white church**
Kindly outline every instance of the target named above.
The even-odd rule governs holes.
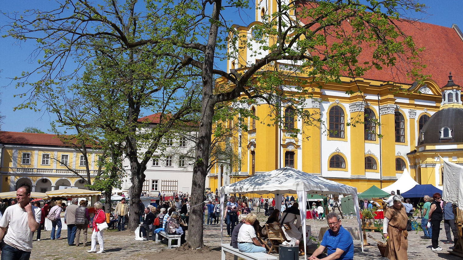
[[[307,19],[302,21],[307,23]],[[450,71],[457,82],[460,80],[463,82],[463,40],[454,29],[408,20],[394,22],[406,35],[413,38],[417,48],[425,48],[419,55],[420,62],[427,66],[422,69],[422,74],[430,74],[431,79],[436,81],[439,87],[445,86]],[[342,26],[345,31],[351,31],[347,21]],[[334,37],[327,38],[328,43],[334,41],[336,41]],[[357,57],[359,64],[371,61],[373,51],[367,43],[363,43],[362,48],[363,55]],[[413,80],[406,76],[410,68],[407,62],[398,59],[394,68],[384,66],[382,70],[372,68],[365,72],[363,78],[411,84]]]

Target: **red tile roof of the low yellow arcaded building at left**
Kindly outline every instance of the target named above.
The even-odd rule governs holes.
[[[0,131],[0,143],[45,146],[69,146],[61,142],[61,140],[56,135],[52,134],[35,134],[6,131]]]

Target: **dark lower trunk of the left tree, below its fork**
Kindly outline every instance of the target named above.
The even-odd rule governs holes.
[[[129,189],[130,205],[129,205],[129,226],[128,229],[135,230],[140,224],[140,194],[142,193],[143,183],[145,180],[144,169],[138,164],[138,158],[131,161],[131,182],[132,186]],[[136,164],[136,165],[135,165]]]

